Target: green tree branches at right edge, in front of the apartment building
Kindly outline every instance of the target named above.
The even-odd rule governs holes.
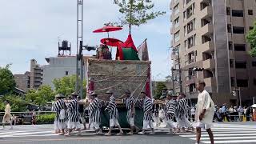
[[[249,54],[256,57],[256,22],[254,22],[254,29],[250,30],[246,35],[246,41],[250,43],[251,50]]]

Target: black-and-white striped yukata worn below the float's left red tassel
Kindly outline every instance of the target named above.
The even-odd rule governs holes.
[[[96,130],[98,130],[100,127],[101,122],[101,108],[102,105],[99,102],[98,98],[94,98],[92,102],[90,102],[89,105],[89,118],[90,118],[90,124],[92,124]]]

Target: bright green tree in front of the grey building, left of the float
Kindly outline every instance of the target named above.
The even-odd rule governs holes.
[[[75,90],[76,76],[68,76],[63,78],[55,78],[53,83],[57,94],[68,96]],[[83,87],[86,87],[86,81],[83,82]]]

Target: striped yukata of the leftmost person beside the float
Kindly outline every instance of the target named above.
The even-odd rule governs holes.
[[[58,101],[53,103],[53,110],[56,111],[55,124],[56,129],[66,128],[66,104],[63,99],[58,99]],[[57,128],[58,127],[58,128]]]

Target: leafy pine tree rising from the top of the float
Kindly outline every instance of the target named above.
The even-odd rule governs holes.
[[[151,0],[114,0],[114,4],[120,7],[119,18],[122,25],[140,26],[159,15],[166,14],[164,11],[153,11],[154,3]],[[118,22],[114,22],[118,23]]]

